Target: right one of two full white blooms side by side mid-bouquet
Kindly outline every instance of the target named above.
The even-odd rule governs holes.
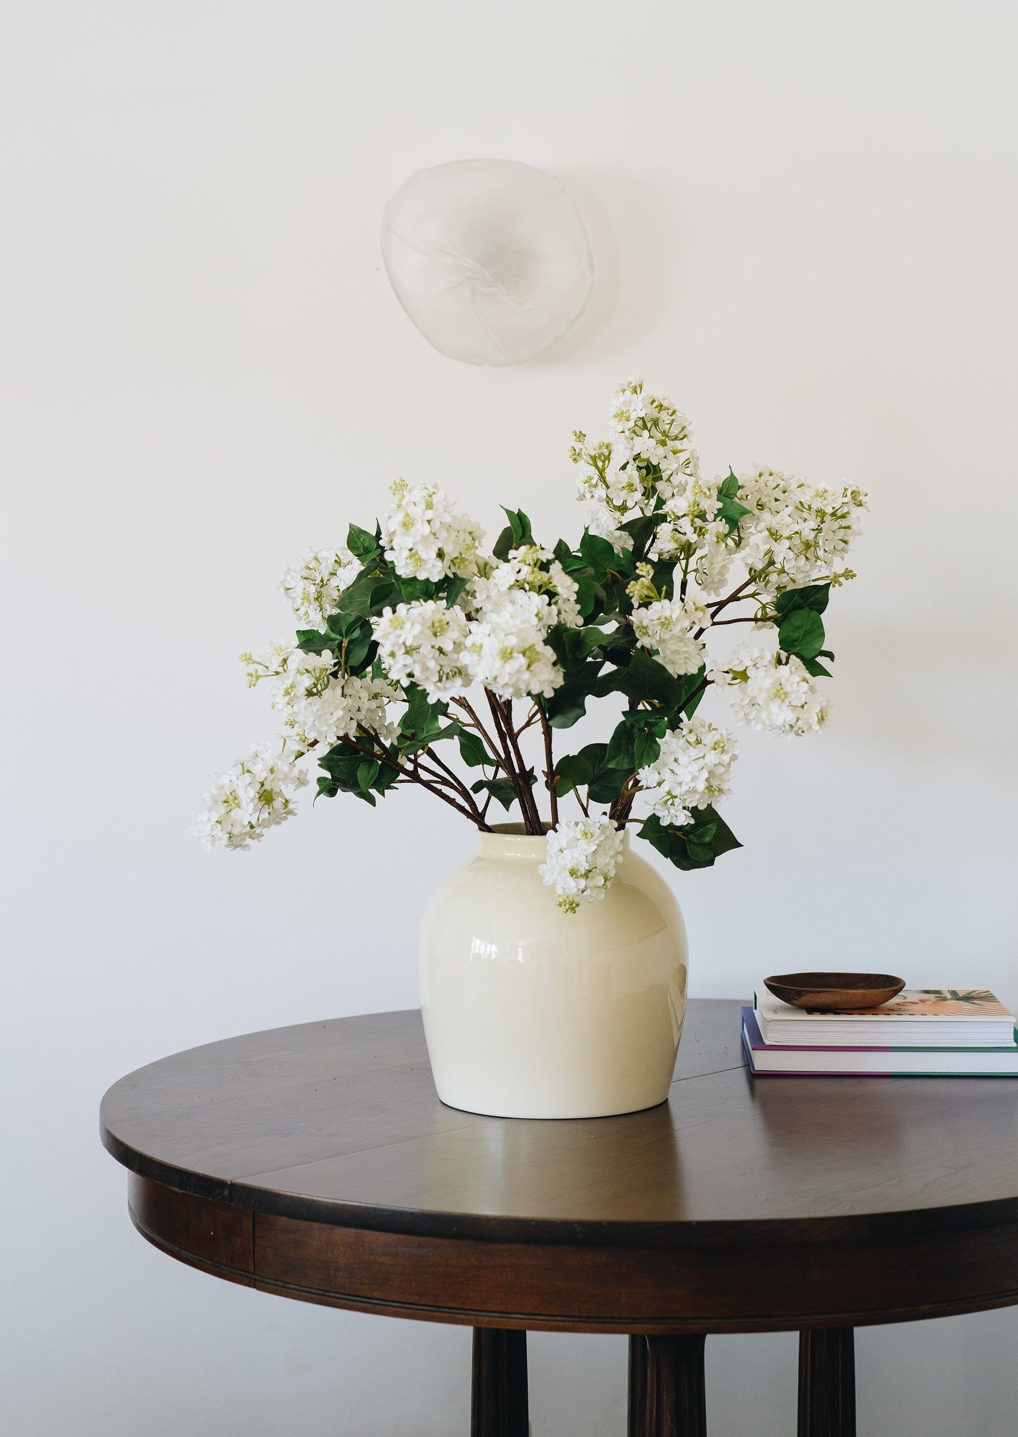
[[[510,589],[470,625],[465,654],[471,677],[501,698],[550,698],[563,671],[544,635],[554,622],[544,593]]]

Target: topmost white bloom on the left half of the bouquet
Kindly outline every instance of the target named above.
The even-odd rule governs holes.
[[[432,582],[477,573],[484,530],[468,514],[454,513],[444,490],[435,484],[411,487],[399,479],[391,493],[393,502],[382,522],[382,543],[396,573]]]

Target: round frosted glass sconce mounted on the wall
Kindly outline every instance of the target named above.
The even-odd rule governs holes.
[[[464,364],[533,359],[583,313],[583,221],[554,175],[513,160],[418,170],[385,207],[382,257],[424,338]]]

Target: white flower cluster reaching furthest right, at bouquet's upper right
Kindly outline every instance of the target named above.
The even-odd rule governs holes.
[[[854,578],[839,570],[861,530],[866,494],[846,486],[811,486],[780,470],[758,467],[739,474],[741,558],[768,596],[818,579]]]

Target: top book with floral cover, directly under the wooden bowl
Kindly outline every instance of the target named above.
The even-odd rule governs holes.
[[[816,1012],[758,987],[762,1040],[793,1048],[1007,1048],[1015,1016],[988,989],[903,989],[880,1007]]]

